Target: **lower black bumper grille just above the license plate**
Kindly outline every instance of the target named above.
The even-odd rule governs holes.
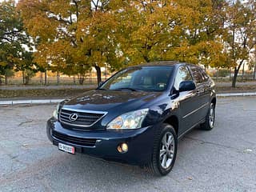
[[[56,131],[52,132],[54,138],[58,138],[63,142],[70,142],[71,144],[75,144],[78,146],[95,146],[96,139],[95,138],[75,138],[71,136],[67,136],[66,134],[60,134]]]

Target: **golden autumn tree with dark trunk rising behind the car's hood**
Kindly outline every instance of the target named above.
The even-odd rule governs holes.
[[[117,69],[123,61],[118,38],[119,23],[115,15],[120,4],[118,1],[92,1],[92,4],[90,17],[78,23],[78,45],[101,82],[100,67],[109,64]]]

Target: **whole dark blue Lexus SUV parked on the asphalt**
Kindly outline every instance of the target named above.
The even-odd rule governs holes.
[[[151,62],[114,74],[96,90],[58,104],[47,135],[59,150],[146,166],[165,175],[178,138],[214,127],[213,80],[199,66]]]

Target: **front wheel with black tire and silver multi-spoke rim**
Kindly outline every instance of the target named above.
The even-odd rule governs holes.
[[[166,142],[164,143],[164,141]],[[163,123],[154,139],[153,154],[146,168],[157,176],[169,174],[176,159],[177,145],[178,138],[174,127]],[[168,150],[166,150],[166,148],[168,148]]]

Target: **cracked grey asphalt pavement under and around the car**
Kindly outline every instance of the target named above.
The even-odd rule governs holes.
[[[256,191],[256,98],[220,98],[214,130],[179,142],[174,170],[66,154],[46,138],[54,106],[0,106],[0,191]]]

